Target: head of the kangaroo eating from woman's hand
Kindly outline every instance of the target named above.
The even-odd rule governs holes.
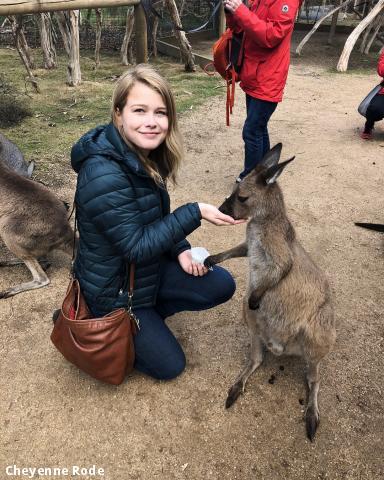
[[[264,218],[276,208],[284,208],[276,180],[295,157],[279,163],[281,149],[281,143],[275,145],[254,170],[236,185],[232,194],[219,207],[222,213],[234,219]]]

